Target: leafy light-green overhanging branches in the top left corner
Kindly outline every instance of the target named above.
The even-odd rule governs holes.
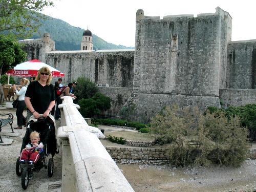
[[[41,19],[39,13],[46,6],[54,6],[50,0],[0,0],[0,33],[13,38],[28,38],[37,32]]]

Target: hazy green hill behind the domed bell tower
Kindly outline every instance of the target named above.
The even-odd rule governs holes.
[[[39,28],[38,33],[34,34],[32,38],[42,38],[42,35],[47,32],[50,34],[50,38],[55,41],[55,49],[61,51],[80,50],[84,29],[73,27],[61,19],[50,16],[48,20],[41,21],[41,23],[42,26]],[[134,48],[111,44],[93,34],[93,50],[97,51],[103,49]]]

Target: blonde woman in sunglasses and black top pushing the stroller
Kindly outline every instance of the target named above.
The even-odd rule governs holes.
[[[25,94],[25,103],[28,108],[27,120],[34,115],[39,118],[40,114],[47,117],[55,105],[55,92],[51,84],[52,73],[48,67],[42,67],[38,71],[35,81],[31,82]]]

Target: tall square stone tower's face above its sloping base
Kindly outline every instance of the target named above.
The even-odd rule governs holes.
[[[218,96],[229,25],[220,14],[136,22],[134,92]]]

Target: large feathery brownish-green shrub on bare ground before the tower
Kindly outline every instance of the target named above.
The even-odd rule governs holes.
[[[240,166],[248,152],[247,134],[238,116],[229,118],[220,111],[205,115],[198,108],[190,113],[177,105],[166,108],[151,118],[151,130],[156,141],[169,143],[166,154],[176,166],[194,163],[217,163]]]

